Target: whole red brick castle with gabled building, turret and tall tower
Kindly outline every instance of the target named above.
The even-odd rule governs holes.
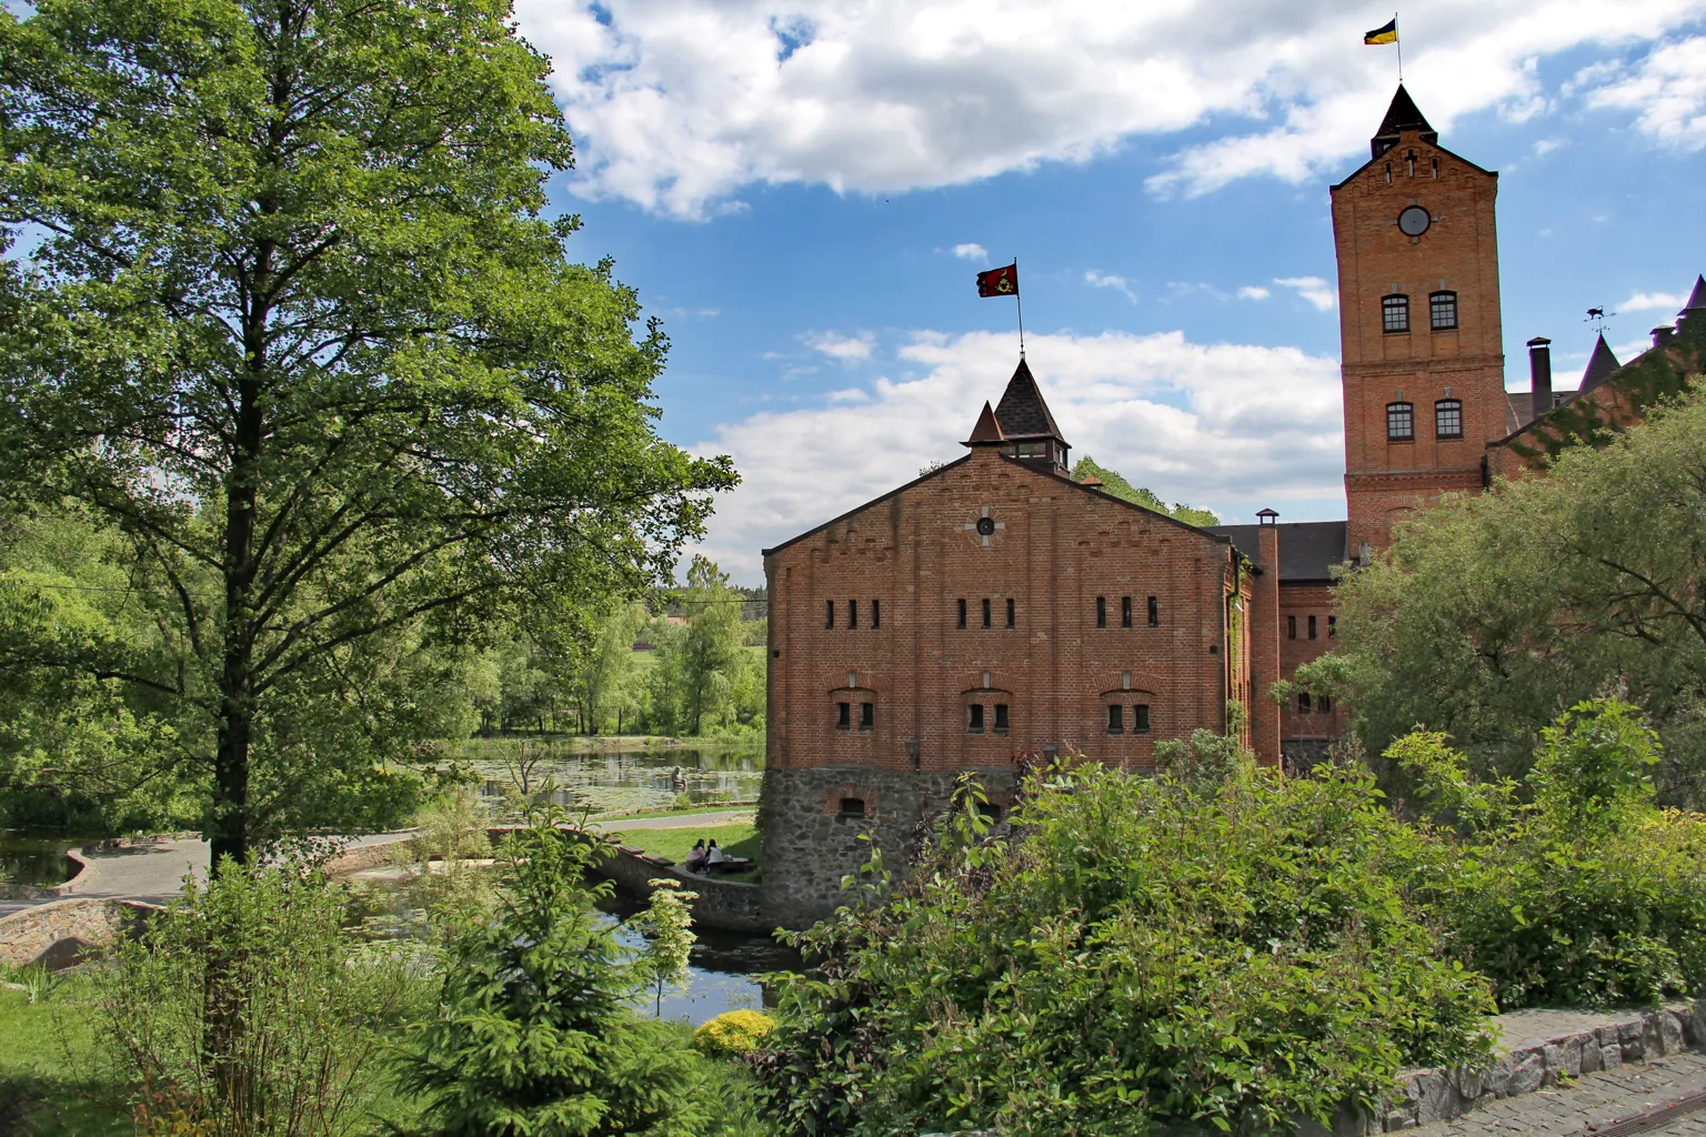
[[[1146,769],[1228,701],[1268,764],[1341,733],[1326,701],[1266,697],[1331,648],[1332,568],[1508,472],[1537,411],[1617,370],[1600,339],[1580,392],[1552,390],[1535,341],[1534,390],[1506,394],[1498,176],[1402,87],[1370,150],[1332,188],[1346,520],[1199,528],[1080,484],[1020,358],[964,457],[764,551],[764,919],[826,915],[858,837],[894,863],[962,771],[1005,811],[1018,752]]]

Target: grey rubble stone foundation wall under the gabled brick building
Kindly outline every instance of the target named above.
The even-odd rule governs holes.
[[[1010,769],[971,771],[1007,817]],[[955,771],[889,771],[868,765],[764,771],[759,828],[764,834],[764,880],[759,912],[780,927],[810,927],[844,903],[841,878],[858,873],[870,846],[884,866],[904,874],[920,822],[940,813],[954,791]],[[843,801],[863,803],[863,817]],[[870,842],[860,840],[870,837]]]

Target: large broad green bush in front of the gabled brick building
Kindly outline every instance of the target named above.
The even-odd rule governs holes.
[[[1423,839],[1372,776],[1227,765],[1047,769],[1024,839],[962,794],[906,888],[873,857],[754,1057],[786,1132],[1285,1127],[1488,1055],[1488,984],[1406,893]]]

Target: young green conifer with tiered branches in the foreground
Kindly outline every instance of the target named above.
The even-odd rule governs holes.
[[[403,1084],[440,1137],[722,1132],[705,1060],[631,1011],[647,973],[594,909],[609,883],[582,883],[602,846],[558,820],[534,810],[498,847],[496,909],[457,917],[440,1009],[413,1031]]]

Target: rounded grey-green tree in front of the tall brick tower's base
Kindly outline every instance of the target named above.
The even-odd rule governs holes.
[[[1416,726],[1477,767],[1529,769],[1558,714],[1607,692],[1665,743],[1670,801],[1706,798],[1706,399],[1604,448],[1450,498],[1339,585],[1338,649],[1298,682],[1346,699],[1370,750]]]

